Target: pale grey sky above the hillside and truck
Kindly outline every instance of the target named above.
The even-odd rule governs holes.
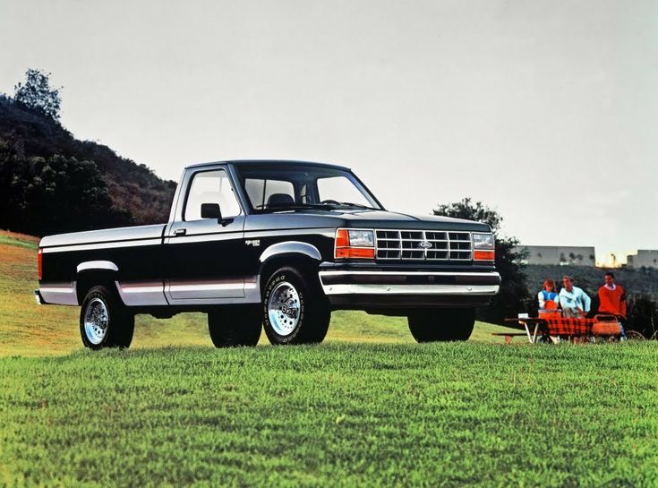
[[[658,2],[0,0],[0,92],[76,137],[352,167],[389,210],[470,196],[523,244],[658,249]]]

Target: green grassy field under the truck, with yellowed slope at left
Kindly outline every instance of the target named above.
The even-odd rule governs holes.
[[[658,486],[655,342],[417,345],[343,312],[320,346],[215,349],[184,314],[90,353],[35,261],[0,235],[0,486]]]

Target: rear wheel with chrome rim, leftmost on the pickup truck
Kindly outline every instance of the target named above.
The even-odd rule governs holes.
[[[135,316],[121,302],[115,290],[92,287],[82,302],[80,336],[84,347],[130,347]]]

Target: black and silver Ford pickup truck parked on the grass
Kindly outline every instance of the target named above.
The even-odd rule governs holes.
[[[81,305],[86,347],[129,347],[136,313],[207,312],[217,347],[320,342],[332,310],[408,317],[419,342],[466,340],[498,293],[483,223],[385,210],[346,167],[186,167],[167,224],[41,239],[39,304]]]

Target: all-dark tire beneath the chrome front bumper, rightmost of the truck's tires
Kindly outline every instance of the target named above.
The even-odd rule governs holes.
[[[409,314],[409,330],[416,342],[468,340],[475,325],[474,309],[421,310]]]

